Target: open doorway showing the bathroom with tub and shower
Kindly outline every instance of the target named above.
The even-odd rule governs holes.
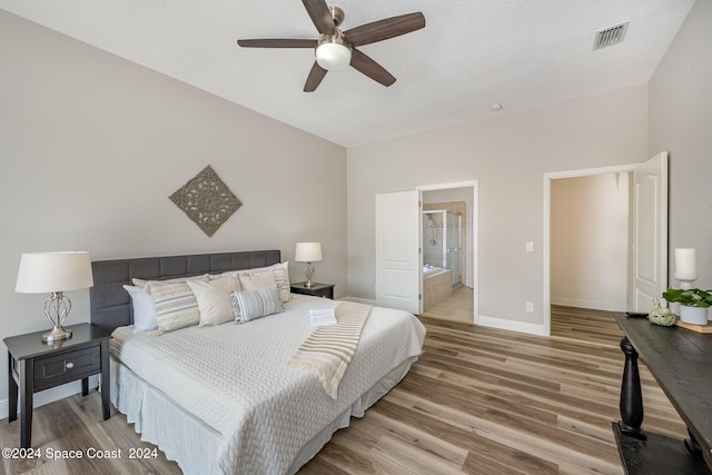
[[[476,182],[423,190],[423,314],[474,323]]]

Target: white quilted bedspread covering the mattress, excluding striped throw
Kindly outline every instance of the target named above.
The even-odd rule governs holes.
[[[283,474],[299,449],[390,369],[422,352],[413,315],[374,307],[336,400],[318,377],[289,368],[307,338],[310,308],[337,301],[294,296],[286,311],[248,324],[190,327],[159,337],[118,328],[115,358],[221,434],[215,457],[226,474]]]

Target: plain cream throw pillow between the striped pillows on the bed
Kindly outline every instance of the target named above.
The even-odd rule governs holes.
[[[198,326],[207,327],[230,321],[234,318],[229,295],[240,289],[236,276],[225,276],[211,280],[188,280],[200,310]]]

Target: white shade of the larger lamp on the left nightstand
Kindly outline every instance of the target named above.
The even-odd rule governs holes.
[[[14,291],[46,294],[92,285],[89,253],[27,253],[20,259]]]

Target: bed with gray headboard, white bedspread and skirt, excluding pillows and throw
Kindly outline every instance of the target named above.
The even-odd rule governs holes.
[[[286,362],[314,330],[308,311],[338,301],[293,294],[284,311],[243,325],[134,331],[123,289],[134,279],[249,274],[279,263],[279,250],[92,263],[91,321],[113,336],[112,404],[186,474],[296,473],[422,352],[425,328],[415,316],[373,307],[334,398],[314,372]]]

